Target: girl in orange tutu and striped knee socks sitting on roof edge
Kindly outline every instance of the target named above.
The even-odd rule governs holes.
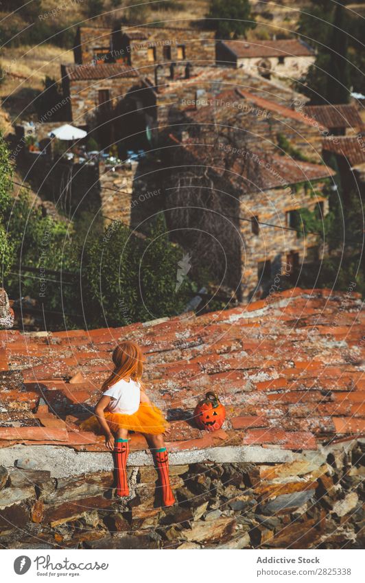
[[[143,433],[154,453],[163,505],[171,506],[175,499],[169,483],[168,454],[163,440],[168,423],[162,411],[144,392],[141,348],[134,342],[122,342],[113,352],[113,363],[115,369],[102,386],[103,396],[97,402],[95,415],[84,421],[81,427],[95,433],[102,428],[106,446],[115,452],[117,496],[129,495],[126,471],[128,431]]]

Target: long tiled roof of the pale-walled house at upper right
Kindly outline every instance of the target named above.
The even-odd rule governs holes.
[[[237,58],[311,56],[314,50],[297,38],[279,41],[222,41]]]

